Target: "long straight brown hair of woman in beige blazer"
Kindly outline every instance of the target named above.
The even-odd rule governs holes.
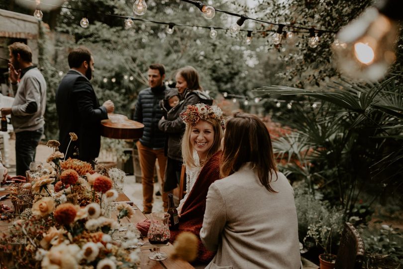
[[[225,128],[221,177],[233,174],[246,162],[251,162],[262,185],[276,192],[270,185],[272,173],[278,175],[269,131],[258,117],[235,113]]]

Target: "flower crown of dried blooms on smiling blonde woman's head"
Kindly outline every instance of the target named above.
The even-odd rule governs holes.
[[[222,116],[222,110],[217,106],[206,104],[188,106],[180,116],[186,125],[195,126],[200,120],[214,119],[220,123],[222,129],[225,129],[225,117]]]

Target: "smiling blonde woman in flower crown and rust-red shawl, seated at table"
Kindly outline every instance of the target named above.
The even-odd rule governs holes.
[[[201,243],[199,233],[203,223],[208,187],[219,179],[219,151],[223,136],[224,117],[217,106],[188,106],[181,118],[186,124],[182,139],[182,155],[187,171],[187,192],[180,203],[179,229],[171,231],[171,243],[182,232],[192,232],[199,238],[197,263],[207,263],[213,252]]]

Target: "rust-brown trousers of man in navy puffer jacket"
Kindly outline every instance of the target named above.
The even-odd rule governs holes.
[[[168,208],[168,192],[163,192],[164,189],[164,174],[167,165],[167,157],[164,156],[164,149],[152,149],[143,146],[140,141],[136,142],[140,167],[141,167],[141,183],[143,185],[143,208],[146,212],[151,212],[153,208],[153,194],[154,194],[154,169],[155,160],[158,159],[160,166],[160,176],[162,179],[162,202],[164,210]]]

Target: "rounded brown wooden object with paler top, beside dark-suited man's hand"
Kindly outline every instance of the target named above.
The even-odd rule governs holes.
[[[144,124],[129,120],[120,114],[108,114],[101,121],[101,135],[116,139],[138,139],[143,136]]]

